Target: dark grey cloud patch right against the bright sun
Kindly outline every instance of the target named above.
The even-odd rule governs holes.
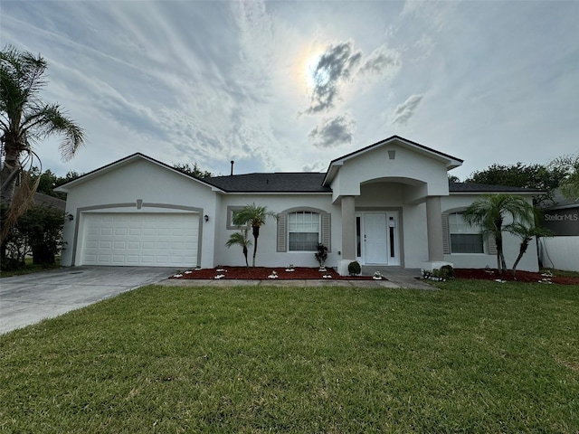
[[[311,71],[314,89],[306,113],[314,114],[335,106],[340,81],[348,79],[362,60],[362,52],[354,51],[353,42],[330,44]]]

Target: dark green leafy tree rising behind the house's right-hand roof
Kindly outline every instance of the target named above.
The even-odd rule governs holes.
[[[552,201],[553,191],[565,174],[565,169],[556,165],[524,165],[519,162],[516,165],[490,165],[486,170],[473,172],[464,182],[536,188],[546,192],[536,196],[536,203],[546,205]]]

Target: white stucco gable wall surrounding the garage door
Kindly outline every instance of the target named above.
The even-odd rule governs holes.
[[[139,199],[160,206],[143,206],[139,210]],[[78,233],[78,248],[74,263],[80,263],[84,212],[79,209],[90,208],[85,212],[185,212],[179,209],[185,206],[199,209],[202,220],[201,265],[211,267],[215,220],[210,218],[209,222],[203,222],[203,215],[214,215],[215,202],[211,187],[140,158],[102,175],[88,177],[86,182],[71,186],[68,192],[66,212],[74,220],[64,225],[66,249],[62,251],[62,265],[70,266],[73,262],[75,233]]]

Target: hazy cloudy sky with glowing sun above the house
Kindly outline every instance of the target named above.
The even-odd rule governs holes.
[[[393,135],[464,159],[579,151],[579,2],[9,1],[0,42],[49,62],[85,173],[141,152],[216,175],[325,171]]]

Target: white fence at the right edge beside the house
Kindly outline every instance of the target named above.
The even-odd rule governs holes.
[[[579,271],[579,236],[541,238],[539,257],[547,269]]]

